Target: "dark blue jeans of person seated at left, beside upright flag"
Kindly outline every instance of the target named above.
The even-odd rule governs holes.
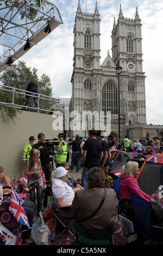
[[[22,207],[24,211],[26,212],[27,218],[28,218],[28,223],[29,227],[32,227],[33,224],[33,218],[35,214],[35,204],[31,201],[25,200],[24,203],[22,204]],[[30,238],[30,231],[31,229],[28,229],[26,225],[22,226],[23,232],[22,232],[22,239],[29,239]],[[24,231],[27,230],[27,231]]]

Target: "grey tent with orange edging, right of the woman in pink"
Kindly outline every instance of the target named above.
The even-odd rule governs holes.
[[[140,168],[136,180],[141,190],[152,196],[160,186],[160,167],[161,163],[146,160]]]

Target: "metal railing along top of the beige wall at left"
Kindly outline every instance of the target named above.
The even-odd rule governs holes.
[[[18,108],[18,109],[25,108],[28,111],[36,110],[37,113],[39,113],[41,111],[46,111],[46,112],[53,113],[54,110],[51,110],[49,107],[59,109],[60,99],[58,99],[58,98],[54,98],[54,97],[39,94],[39,93],[33,93],[33,92],[29,92],[27,90],[21,90],[21,89],[17,89],[17,88],[14,88],[14,87],[1,86],[0,85],[0,93],[1,93],[1,91],[12,93],[12,101],[10,103],[0,101],[0,104],[3,104],[3,105],[11,106],[11,107]],[[14,102],[14,96],[15,95],[17,96],[17,94],[18,95],[26,95],[26,99],[29,100],[28,101],[29,105],[26,105],[26,103],[25,103],[25,106],[21,106],[21,105],[16,104]],[[43,100],[44,102],[40,102],[41,100]],[[35,103],[35,107],[32,105],[33,101]],[[27,100],[26,100],[26,102],[27,102]],[[43,106],[47,106],[48,109],[47,109],[47,107],[42,108]]]

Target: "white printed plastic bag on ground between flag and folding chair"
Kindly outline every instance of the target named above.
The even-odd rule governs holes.
[[[49,245],[51,241],[51,231],[47,224],[45,224],[41,211],[39,215],[39,219],[33,224],[30,239],[32,239],[36,245]]]

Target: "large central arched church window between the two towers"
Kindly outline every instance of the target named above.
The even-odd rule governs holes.
[[[111,114],[118,113],[117,88],[111,80],[106,82],[102,90],[102,111],[111,111]]]

